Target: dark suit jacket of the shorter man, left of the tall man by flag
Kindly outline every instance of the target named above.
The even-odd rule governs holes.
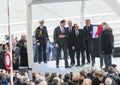
[[[75,49],[79,49],[81,51],[85,50],[85,36],[84,36],[84,30],[80,29],[79,30],[79,35],[77,36],[74,30],[74,46]]]

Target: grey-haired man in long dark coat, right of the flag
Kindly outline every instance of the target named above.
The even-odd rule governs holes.
[[[108,67],[112,65],[112,49],[114,45],[114,36],[112,30],[110,30],[109,25],[106,22],[102,23],[103,31],[101,33],[101,53],[104,58],[105,68],[104,70],[107,71]]]

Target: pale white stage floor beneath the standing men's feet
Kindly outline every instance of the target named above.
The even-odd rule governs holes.
[[[120,70],[120,58],[113,58],[113,63],[118,65],[118,69]],[[56,73],[68,73],[68,72],[79,72],[80,70],[87,69],[90,70],[92,67],[91,64],[87,64],[83,67],[75,67],[73,66],[72,68],[64,68],[64,60],[60,60],[60,68],[56,68],[56,62],[55,61],[48,61],[47,64],[45,63],[34,63],[33,65],[33,70],[40,72],[40,73],[45,73],[45,72],[56,72]],[[96,63],[95,67],[100,69],[100,59],[96,58]],[[103,66],[104,67],[104,66]]]

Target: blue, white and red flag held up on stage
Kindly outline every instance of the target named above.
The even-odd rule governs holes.
[[[101,25],[93,25],[92,26],[92,38],[98,38],[101,31],[102,31]]]

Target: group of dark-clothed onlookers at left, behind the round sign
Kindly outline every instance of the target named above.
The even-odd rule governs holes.
[[[5,53],[10,52],[9,43],[1,44],[0,48],[0,69],[6,69],[4,58]],[[21,35],[19,41],[12,36],[12,58],[14,70],[18,70],[19,66],[28,67],[27,40],[25,34]]]

